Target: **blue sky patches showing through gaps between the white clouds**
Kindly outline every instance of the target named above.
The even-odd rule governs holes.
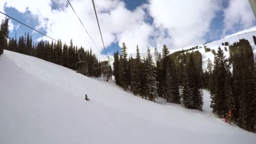
[[[130,11],[135,11],[137,7],[140,7],[141,5],[144,5],[145,3],[149,3],[148,0],[123,0],[123,2],[125,3],[125,8],[127,8]],[[8,3],[8,2],[7,2]],[[67,5],[66,5],[67,6]],[[222,0],[222,9],[227,8],[228,6],[228,0]],[[52,9],[58,9],[58,6],[56,6],[55,4],[51,5]],[[211,41],[211,40],[218,40],[221,38],[221,36],[223,36],[223,30],[224,30],[224,12],[222,11],[222,9],[216,11],[216,16],[211,20],[210,26],[209,26],[209,31],[205,33],[204,35],[204,40],[205,42]],[[32,18],[32,14],[31,11],[29,10],[29,8],[27,8],[27,10],[25,12],[20,12],[18,11],[16,8],[11,7],[11,6],[7,6],[4,7],[4,12],[10,16],[12,16],[13,18],[18,19],[21,22],[24,22],[25,24],[31,26],[31,27],[36,27],[38,25],[38,19],[37,18]],[[152,25],[154,18],[152,16],[149,15],[148,11],[145,10],[145,13],[147,15],[147,19],[144,19],[144,22]],[[74,14],[75,16],[75,14]],[[51,18],[49,18],[51,19]],[[186,19],[184,17],[184,19]],[[77,22],[78,19],[77,19]],[[42,37],[41,34],[38,34],[37,32],[32,32],[31,29],[23,26],[22,24],[19,24],[16,21],[12,21],[14,28],[13,30],[10,32],[10,36],[14,37],[15,34],[17,35],[17,37],[19,37],[20,35],[24,35],[25,32],[29,32],[29,34],[32,34],[32,38],[33,40],[37,40],[38,38]],[[255,25],[255,21],[253,21],[253,24]],[[37,29],[40,32],[46,33],[46,29],[40,28]],[[236,25],[232,28],[229,29],[226,32],[227,34],[232,34],[233,32],[236,32],[238,30],[241,30],[241,26],[238,24],[237,27]],[[49,35],[51,36],[51,35]],[[104,37],[104,35],[103,35]],[[152,37],[154,38],[154,37]],[[100,44],[99,44],[100,45]],[[120,44],[118,43],[117,40],[113,41],[107,48],[107,53],[114,53],[116,50],[120,51]],[[101,54],[104,54],[104,51],[101,51]]]

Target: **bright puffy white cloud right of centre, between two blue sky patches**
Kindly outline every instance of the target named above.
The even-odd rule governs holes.
[[[221,9],[219,0],[149,0],[149,11],[155,27],[160,28],[158,45],[181,48],[205,41],[216,11]],[[163,30],[166,30],[169,37]]]

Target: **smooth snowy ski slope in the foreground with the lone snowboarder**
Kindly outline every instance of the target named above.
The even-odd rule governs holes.
[[[0,57],[0,144],[255,144],[256,134],[11,51]],[[87,93],[91,101],[85,101]]]

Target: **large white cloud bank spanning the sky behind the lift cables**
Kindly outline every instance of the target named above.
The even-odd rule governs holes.
[[[38,18],[37,28],[45,28],[49,36],[61,38],[66,43],[72,38],[75,45],[91,47],[99,54],[72,8],[67,7],[66,0],[54,1],[61,7],[56,10],[52,10],[51,0],[5,2],[22,13],[28,7],[32,17]],[[5,2],[0,2],[0,5]],[[70,3],[101,51],[103,45],[91,0],[71,0]],[[221,8],[219,0],[149,0],[149,4],[133,11],[125,8],[123,0],[95,0],[95,5],[105,46],[113,42],[121,46],[125,42],[128,53],[135,53],[136,45],[144,53],[147,47],[153,49],[157,46],[160,50],[163,44],[171,49],[203,43],[215,12]],[[144,21],[147,19],[144,9],[153,17],[152,25]]]

